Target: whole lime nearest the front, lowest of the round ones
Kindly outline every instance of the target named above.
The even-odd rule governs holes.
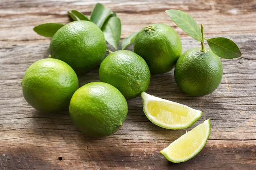
[[[105,137],[124,124],[128,105],[114,86],[91,82],[80,87],[70,101],[70,117],[85,135]]]

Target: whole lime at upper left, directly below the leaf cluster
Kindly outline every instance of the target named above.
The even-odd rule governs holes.
[[[106,40],[99,27],[90,21],[74,21],[61,27],[52,37],[52,58],[69,64],[76,73],[98,66],[106,55]]]

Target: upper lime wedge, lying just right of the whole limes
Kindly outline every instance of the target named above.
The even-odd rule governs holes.
[[[194,124],[202,115],[202,111],[200,110],[155,97],[146,92],[141,93],[141,98],[145,115],[153,124],[162,128],[187,128]]]

